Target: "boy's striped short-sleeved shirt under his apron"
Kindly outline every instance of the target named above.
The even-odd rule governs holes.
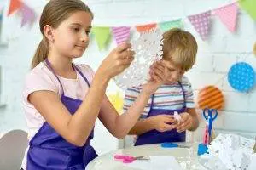
[[[191,84],[187,77],[182,77],[180,81],[184,94],[185,94],[185,103],[183,98],[183,90],[178,82],[172,82],[168,85],[162,85],[154,93],[154,101],[152,108],[154,109],[164,109],[164,110],[177,110],[182,109],[183,105],[187,108],[195,108],[194,103],[194,94],[191,88]],[[123,112],[133,104],[137,96],[142,90],[142,86],[128,88],[125,91],[125,101],[123,106]],[[144,108],[144,111],[141,113],[141,118],[146,118],[150,110],[152,97],[148,99],[148,104]]]

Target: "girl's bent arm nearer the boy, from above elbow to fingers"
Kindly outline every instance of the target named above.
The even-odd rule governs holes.
[[[163,69],[164,66],[161,63],[154,65],[154,74],[151,75],[151,81],[143,86],[137,99],[122,115],[119,115],[113,108],[113,105],[109,102],[107,96],[105,96],[105,99],[102,102],[102,110],[100,111],[99,118],[113,136],[123,139],[125,135],[129,133],[131,127],[136,124],[141,112],[143,112],[145,105],[148,103],[148,99],[163,83]]]

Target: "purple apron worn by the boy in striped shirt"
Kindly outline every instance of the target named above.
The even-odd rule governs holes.
[[[183,113],[186,111],[186,99],[183,86],[181,82],[178,82],[183,91],[183,108],[178,110],[164,110],[164,109],[154,109],[154,94],[152,96],[152,101],[150,105],[150,110],[148,112],[148,117],[150,116],[158,116],[158,115],[173,115],[174,111],[178,113]],[[177,133],[176,129],[172,129],[171,131],[159,132],[157,130],[151,130],[147,133],[143,133],[138,136],[137,141],[134,145],[142,145],[142,144],[159,144],[164,142],[184,142],[186,140],[186,132]]]

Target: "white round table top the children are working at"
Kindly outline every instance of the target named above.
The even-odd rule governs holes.
[[[121,150],[115,150],[98,156],[95,160],[90,161],[86,170],[138,170],[127,167],[120,161],[114,161],[114,155],[129,155],[129,156],[174,156],[181,163],[182,167],[188,170],[206,170],[201,167],[197,156],[197,143],[177,143],[181,145],[191,146],[186,148],[162,148],[160,144],[147,144],[141,146],[133,146]]]

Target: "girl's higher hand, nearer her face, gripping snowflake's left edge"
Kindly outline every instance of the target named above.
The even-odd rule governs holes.
[[[113,51],[108,54],[108,57],[102,61],[98,72],[100,72],[103,77],[110,79],[124,71],[134,59],[134,51],[129,50],[130,48],[131,43],[128,42],[124,42],[117,48],[114,48]]]

